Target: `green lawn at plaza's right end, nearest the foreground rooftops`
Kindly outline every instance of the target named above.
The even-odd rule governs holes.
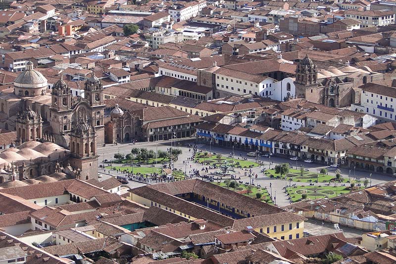
[[[316,192],[315,192],[316,190]],[[306,192],[309,199],[318,199],[318,198],[332,198],[336,197],[339,194],[349,193],[348,187],[336,187],[336,186],[297,186],[297,187],[288,187],[287,188],[290,197],[292,198],[292,202],[298,202],[302,198],[302,194]]]

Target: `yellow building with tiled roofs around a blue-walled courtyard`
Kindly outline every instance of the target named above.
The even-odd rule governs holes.
[[[199,183],[203,184],[201,182],[202,181]],[[206,182],[204,182],[204,185],[208,185],[207,187],[215,186]],[[248,208],[248,204],[256,204],[256,200],[251,198],[249,198],[252,200],[251,203],[244,201],[247,205],[246,208],[239,207],[237,209],[236,205],[232,205],[232,199],[229,199],[227,201],[228,204],[226,204],[226,199],[224,199],[225,202],[215,201],[210,197],[206,198],[203,195],[189,192],[186,189],[180,191],[186,193],[176,194],[174,196],[171,194],[166,194],[163,191],[159,192],[158,190],[144,186],[130,190],[129,199],[147,207],[153,206],[173,212],[190,220],[201,218],[211,220],[224,226],[231,227],[236,231],[245,230],[248,226],[251,226],[256,232],[266,234],[271,238],[288,240],[303,237],[304,220],[306,218],[299,214],[283,211],[278,208],[274,209],[272,206],[267,212],[259,210],[254,211],[253,209]],[[227,191],[224,190],[224,192]],[[173,192],[173,194],[174,193],[176,192]],[[239,195],[235,192],[232,192],[232,194],[237,196],[236,198],[246,199],[239,197],[242,195]],[[161,198],[161,196],[165,197]],[[207,194],[207,196],[210,195]],[[187,200],[193,202],[189,202]],[[257,205],[260,206],[260,204]],[[253,208],[255,207],[256,205],[254,205]],[[269,207],[269,205],[262,204],[262,207]],[[253,213],[259,215],[254,215]]]

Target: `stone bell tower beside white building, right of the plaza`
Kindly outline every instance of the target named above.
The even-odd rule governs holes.
[[[314,99],[312,102],[317,101],[315,97],[319,95],[317,95],[317,89],[315,88],[318,87],[318,70],[308,54],[297,64],[295,84],[297,98]]]

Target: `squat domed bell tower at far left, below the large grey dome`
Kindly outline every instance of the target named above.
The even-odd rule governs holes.
[[[17,144],[26,141],[38,140],[43,137],[43,120],[41,115],[28,106],[22,113],[18,112],[16,117]]]

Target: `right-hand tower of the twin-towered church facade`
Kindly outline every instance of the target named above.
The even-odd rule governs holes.
[[[84,97],[91,107],[90,125],[95,127],[97,132],[97,143],[104,144],[104,107],[106,106],[103,102],[103,86],[98,77],[95,76],[95,72],[85,82],[84,86]]]

